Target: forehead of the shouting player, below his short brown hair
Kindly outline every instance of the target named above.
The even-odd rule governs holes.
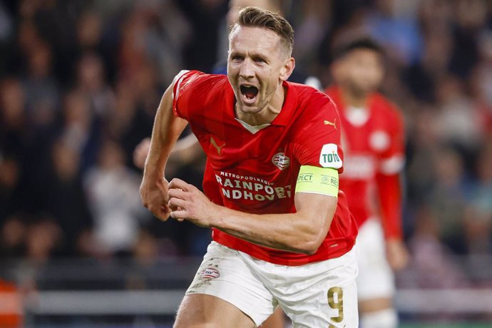
[[[236,26],[229,37],[230,51],[252,51],[264,55],[278,51],[280,36],[262,27]]]

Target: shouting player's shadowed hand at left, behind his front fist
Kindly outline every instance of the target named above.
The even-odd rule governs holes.
[[[165,178],[150,178],[144,175],[140,185],[140,198],[143,206],[163,221],[168,220],[171,212],[168,206],[168,184]]]

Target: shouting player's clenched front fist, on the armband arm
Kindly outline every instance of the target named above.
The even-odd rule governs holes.
[[[169,183],[171,217],[188,220],[200,227],[210,227],[217,217],[217,205],[212,203],[198,188],[180,179]]]

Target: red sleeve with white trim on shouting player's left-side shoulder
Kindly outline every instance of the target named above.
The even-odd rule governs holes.
[[[188,121],[192,95],[196,81],[203,73],[200,71],[180,71],[173,80],[173,111],[176,116]]]

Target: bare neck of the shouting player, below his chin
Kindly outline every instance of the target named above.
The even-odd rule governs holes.
[[[271,123],[280,114],[280,111],[282,111],[285,100],[285,91],[284,86],[280,83],[267,105],[257,113],[245,113],[240,110],[236,103],[235,111],[237,119],[251,126]]]

